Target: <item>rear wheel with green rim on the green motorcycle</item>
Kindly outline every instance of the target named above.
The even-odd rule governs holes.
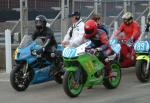
[[[112,73],[111,76],[109,76],[110,73]],[[116,75],[113,73],[116,73]],[[110,70],[106,70],[105,76],[106,77],[104,78],[104,82],[103,82],[103,85],[105,86],[105,88],[107,89],[117,88],[121,81],[121,69],[120,69],[119,64],[118,63],[110,64]]]

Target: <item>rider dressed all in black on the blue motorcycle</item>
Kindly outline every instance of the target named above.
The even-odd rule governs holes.
[[[41,50],[37,51],[38,53],[42,53],[43,56],[49,60],[53,61],[51,56],[52,53],[57,48],[57,42],[54,37],[53,31],[46,27],[47,24],[47,18],[44,15],[38,15],[35,18],[35,27],[36,30],[34,31],[32,35],[32,39],[35,40],[36,38],[42,38],[42,41],[44,42],[44,46]]]

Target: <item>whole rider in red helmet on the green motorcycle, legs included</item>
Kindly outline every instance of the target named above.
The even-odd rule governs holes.
[[[111,72],[110,72],[110,67],[109,67],[109,60],[108,60],[108,56],[110,55],[114,55],[113,50],[111,49],[111,47],[109,46],[109,40],[108,40],[108,36],[106,34],[106,32],[102,29],[98,29],[97,27],[97,23],[94,20],[88,20],[85,23],[84,26],[84,30],[85,30],[85,39],[89,39],[92,41],[92,43],[94,45],[92,45],[92,47],[90,48],[86,48],[87,51],[89,51],[90,53],[92,52],[92,54],[97,54],[96,56],[99,56],[101,58],[99,58],[104,64],[105,67],[107,68],[107,72],[106,72],[106,77],[111,76]],[[89,86],[87,89],[91,89],[92,86]]]

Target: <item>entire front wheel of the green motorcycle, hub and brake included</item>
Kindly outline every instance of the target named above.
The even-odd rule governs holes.
[[[69,97],[77,97],[81,93],[83,89],[82,77],[80,70],[66,71],[64,74],[63,88]]]

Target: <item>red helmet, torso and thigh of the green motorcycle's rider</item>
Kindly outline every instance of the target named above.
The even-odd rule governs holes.
[[[102,56],[102,60],[106,62],[106,58],[113,54],[111,47],[109,46],[108,36],[105,31],[98,29],[97,23],[94,20],[88,20],[84,26],[86,39],[92,41],[94,46],[92,46],[92,51],[99,51]]]

